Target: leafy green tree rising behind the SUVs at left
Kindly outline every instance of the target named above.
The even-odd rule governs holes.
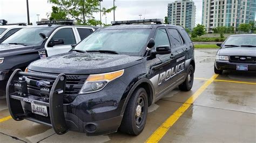
[[[102,10],[99,9],[99,0],[48,0],[54,4],[57,12],[52,11],[52,19],[55,18],[71,18],[76,20],[77,24],[81,25],[100,25],[99,20],[95,20],[93,13],[102,11],[103,15],[116,9],[116,6]]]

